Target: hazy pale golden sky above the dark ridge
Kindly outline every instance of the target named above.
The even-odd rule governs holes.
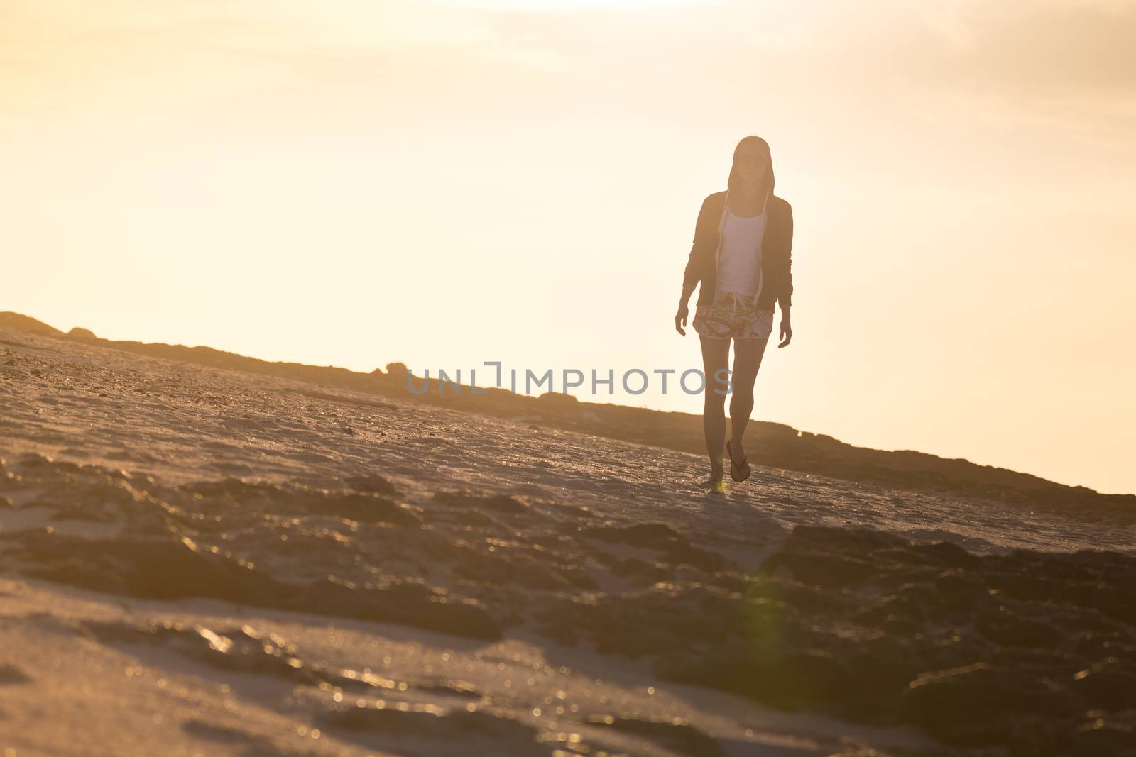
[[[1136,493],[1133,39],[1128,0],[0,0],[0,310],[701,413],[657,371],[701,368],[694,220],[758,134],[794,293],[752,418]]]

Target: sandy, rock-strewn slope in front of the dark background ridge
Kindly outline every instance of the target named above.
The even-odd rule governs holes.
[[[0,329],[0,748],[1134,754],[1136,529]]]

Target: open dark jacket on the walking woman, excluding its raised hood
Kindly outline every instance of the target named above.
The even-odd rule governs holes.
[[[694,226],[694,244],[691,245],[691,256],[683,276],[683,292],[693,291],[694,283],[701,281],[695,303],[699,305],[709,305],[713,302],[726,196],[725,190],[707,196],[702,201],[699,220]],[[766,221],[765,236],[761,237],[762,283],[757,305],[759,309],[772,310],[776,300],[780,302],[784,311],[790,308],[793,297],[790,254],[793,250],[793,208],[782,197],[771,195],[766,210],[769,219]]]

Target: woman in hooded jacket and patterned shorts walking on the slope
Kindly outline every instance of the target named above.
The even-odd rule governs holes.
[[[686,335],[687,301],[701,281],[692,325],[702,340],[707,377],[702,426],[710,455],[705,483],[722,490],[722,439],[726,430],[726,394],[729,401],[730,437],[726,443],[729,474],[735,481],[750,477],[742,435],[753,411],[753,384],[772,331],[774,301],[780,302],[778,347],[793,338],[790,301],[793,274],[793,209],[774,194],[774,166],[769,144],[750,135],[734,149],[734,165],[725,192],[702,202],[694,226],[694,244],[683,276],[683,294],[675,328]],[[734,370],[729,340],[734,339]],[[732,381],[730,381],[732,379]]]

